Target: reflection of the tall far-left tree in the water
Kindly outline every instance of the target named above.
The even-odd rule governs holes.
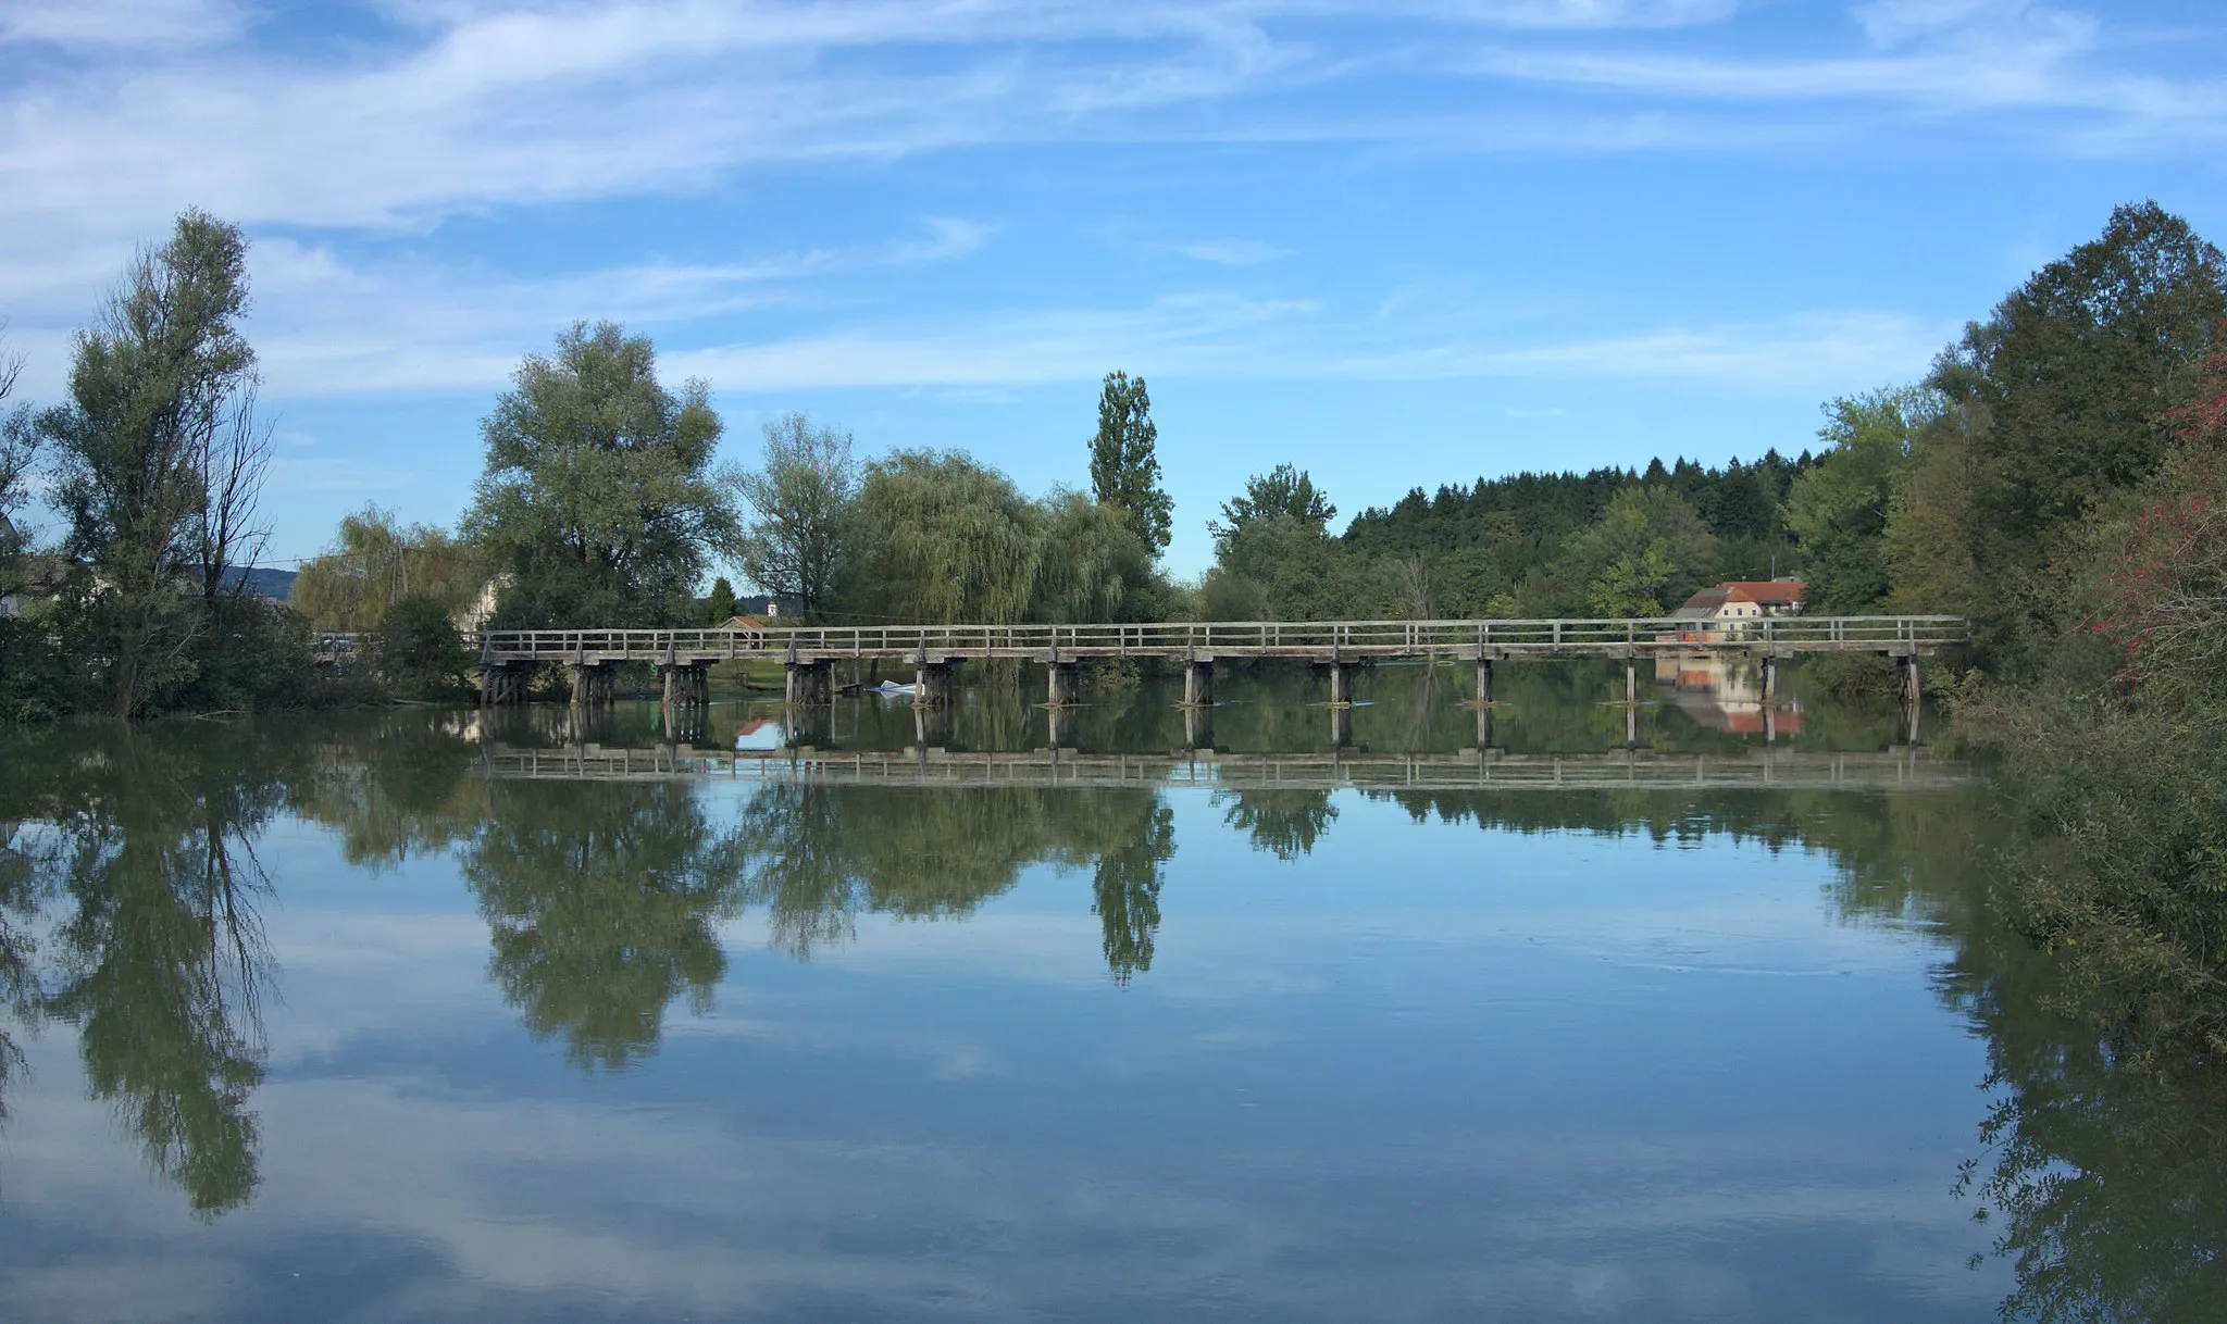
[[[71,728],[42,745],[31,754],[51,759],[45,770],[18,765],[0,790],[9,814],[29,808],[51,826],[47,846],[18,857],[67,906],[38,1010],[78,1026],[91,1093],[198,1215],[238,1208],[258,1182],[247,1104],[269,981],[254,839],[287,768],[229,728]]]

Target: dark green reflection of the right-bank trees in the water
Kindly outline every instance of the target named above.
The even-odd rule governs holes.
[[[2078,1004],[2000,906],[2031,868],[1980,797],[1866,797],[1813,830],[1857,921],[1949,943],[1942,999],[1984,1037],[1993,1106],[1958,1193],[1995,1228],[2007,1320],[2218,1320],[2227,1302],[2227,1064],[2145,1055]],[[2125,990],[2120,990],[2125,992]]]

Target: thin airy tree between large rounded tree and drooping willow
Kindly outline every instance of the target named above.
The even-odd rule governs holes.
[[[786,414],[766,423],[764,465],[728,472],[726,483],[750,510],[735,547],[742,572],[806,616],[824,610],[851,550],[844,527],[857,496],[851,434]]]

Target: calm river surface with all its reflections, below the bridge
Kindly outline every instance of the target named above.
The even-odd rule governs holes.
[[[1463,688],[1383,668],[1334,730],[1238,676],[1205,734],[1461,752]],[[1503,690],[1508,757],[1623,748],[1621,674]],[[1759,752],[1717,699],[1650,690],[1641,745]],[[1071,730],[998,690],[935,730],[779,717],[675,734],[1203,734],[1156,685]],[[1817,701],[1791,728],[1897,739]],[[490,759],[664,734],[621,705],[0,737],[0,1315],[2116,1317],[2218,1246],[2216,1197],[2158,1177],[2187,1137],[2022,1010],[1984,788]]]

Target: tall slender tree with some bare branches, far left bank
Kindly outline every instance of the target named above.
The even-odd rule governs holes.
[[[180,585],[200,576],[203,559],[229,552],[229,532],[218,536],[209,521],[212,458],[243,461],[241,472],[216,474],[216,485],[234,481],[232,501],[247,494],[234,514],[254,507],[256,356],[238,325],[245,260],[238,227],[180,214],[171,238],[143,249],[96,325],[78,332],[69,403],[38,418],[58,461],[53,503],[69,521],[67,550],[102,585],[98,625],[114,708],[125,717],[151,681],[176,670],[198,625]],[[245,527],[245,516],[241,525],[229,518],[214,523]]]

